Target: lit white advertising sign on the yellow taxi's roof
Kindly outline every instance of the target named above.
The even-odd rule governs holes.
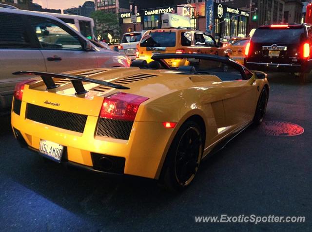
[[[191,27],[191,19],[189,17],[166,13],[161,18],[161,28]]]

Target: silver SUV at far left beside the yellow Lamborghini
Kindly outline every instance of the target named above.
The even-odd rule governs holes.
[[[10,107],[17,70],[63,72],[104,67],[129,67],[130,60],[100,50],[66,23],[31,11],[0,8],[0,109]]]

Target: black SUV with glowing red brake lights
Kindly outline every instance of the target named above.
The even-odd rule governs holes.
[[[309,24],[260,26],[246,46],[244,64],[251,70],[292,72],[303,81],[312,70]]]

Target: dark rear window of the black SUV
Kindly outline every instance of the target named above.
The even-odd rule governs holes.
[[[298,43],[305,37],[303,28],[257,29],[252,37],[255,43]]]

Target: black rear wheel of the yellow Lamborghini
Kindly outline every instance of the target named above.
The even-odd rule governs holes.
[[[178,130],[164,162],[160,184],[171,191],[181,191],[195,178],[203,153],[201,128],[187,121]]]

